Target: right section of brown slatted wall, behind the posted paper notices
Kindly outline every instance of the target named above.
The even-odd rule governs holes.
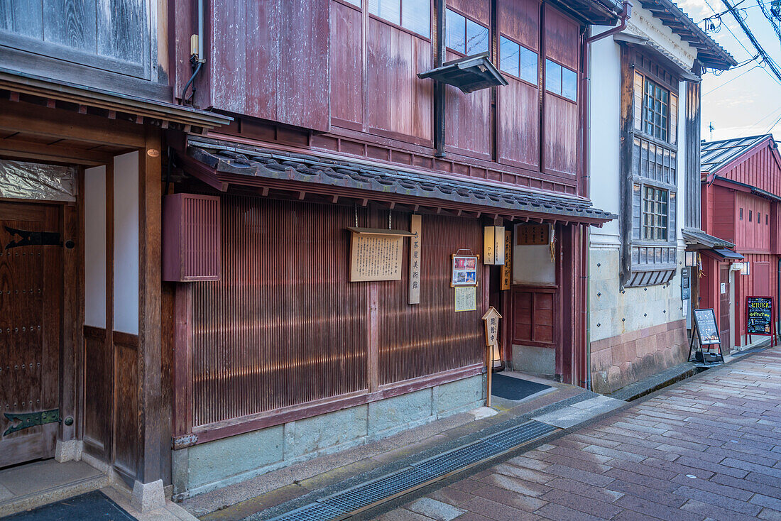
[[[382,216],[387,219],[387,212]],[[406,228],[409,214],[395,214],[393,222]],[[377,309],[380,385],[458,369],[483,359],[482,287],[477,288],[477,311],[472,312],[453,311],[455,290],[450,287],[451,254],[458,248],[480,252],[483,227],[477,219],[428,215],[423,216],[422,225],[422,303],[407,303],[408,269],[401,281],[378,283],[382,295]],[[408,248],[405,244],[405,259]]]

